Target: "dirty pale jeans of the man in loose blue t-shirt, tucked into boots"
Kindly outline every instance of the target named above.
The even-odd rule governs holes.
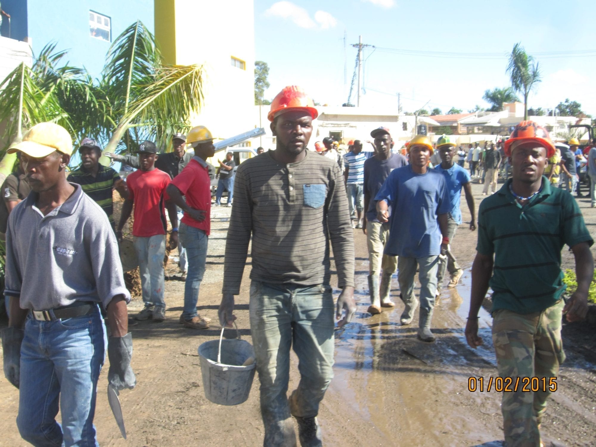
[[[398,283],[402,300],[409,303],[414,299],[414,279],[418,265],[420,281],[420,309],[430,312],[434,308],[434,296],[437,293],[437,269],[439,256],[398,257]]]

